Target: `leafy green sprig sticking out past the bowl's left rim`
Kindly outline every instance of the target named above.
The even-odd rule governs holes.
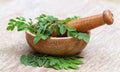
[[[32,24],[33,21],[31,18],[27,21],[24,17],[16,17],[9,20],[7,30],[12,31],[17,27],[17,31],[29,30],[31,33],[34,33],[35,29],[31,27]]]

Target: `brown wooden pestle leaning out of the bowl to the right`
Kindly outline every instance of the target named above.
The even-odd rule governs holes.
[[[105,10],[102,14],[80,18],[78,20],[70,21],[67,24],[71,28],[76,28],[78,32],[88,32],[89,30],[104,24],[111,25],[113,21],[113,14],[111,11]],[[54,30],[52,36],[57,36],[56,30]]]

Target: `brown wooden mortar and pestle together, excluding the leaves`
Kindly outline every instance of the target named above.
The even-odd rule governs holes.
[[[68,22],[70,27],[77,28],[78,32],[86,32],[89,34],[89,30],[99,27],[104,24],[111,25],[113,23],[113,15],[111,11],[104,11],[102,14],[81,18]],[[87,43],[83,40],[77,40],[73,37],[51,37],[47,40],[40,40],[37,44],[33,44],[35,35],[26,31],[26,40],[29,46],[39,52],[49,55],[74,55],[80,53]],[[53,36],[57,36],[54,30]]]

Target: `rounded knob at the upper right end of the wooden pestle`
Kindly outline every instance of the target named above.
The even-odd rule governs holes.
[[[108,25],[113,24],[113,14],[110,10],[105,10],[103,12],[103,18],[104,18],[104,22]]]

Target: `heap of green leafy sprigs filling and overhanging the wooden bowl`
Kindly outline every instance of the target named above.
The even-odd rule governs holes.
[[[26,20],[24,17],[16,17],[16,19],[9,20],[7,30],[14,30],[15,27],[17,27],[18,31],[29,30],[31,33],[36,35],[33,40],[33,43],[36,44],[39,40],[50,38],[56,28],[57,35],[63,35],[67,32],[68,37],[75,37],[78,40],[83,39],[88,43],[90,39],[88,34],[77,32],[76,28],[70,28],[67,26],[67,22],[78,18],[79,17],[74,16],[72,18],[59,20],[56,17],[41,14],[39,17],[35,18],[38,22],[33,25],[31,18]]]

